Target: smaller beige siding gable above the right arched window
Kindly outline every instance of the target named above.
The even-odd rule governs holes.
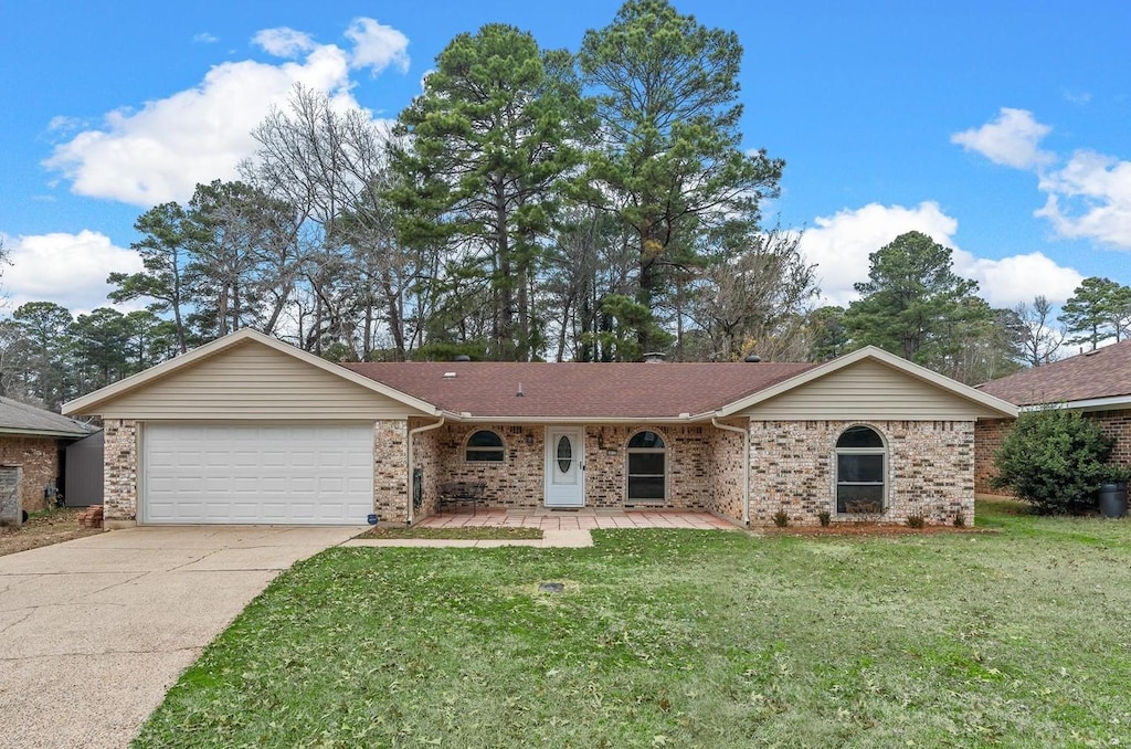
[[[739,412],[761,421],[970,421],[985,406],[877,361],[860,361]]]

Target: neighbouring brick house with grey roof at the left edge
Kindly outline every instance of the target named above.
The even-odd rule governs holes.
[[[20,507],[44,509],[62,490],[63,451],[93,428],[51,411],[0,397],[0,471],[18,468]]]

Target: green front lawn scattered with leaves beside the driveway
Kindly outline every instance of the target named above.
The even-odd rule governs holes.
[[[1000,533],[333,549],[137,746],[1131,744],[1131,523],[978,525]]]

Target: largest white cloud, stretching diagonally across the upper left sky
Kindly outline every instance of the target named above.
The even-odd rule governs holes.
[[[335,44],[314,44],[300,32],[268,29],[257,43],[276,53],[310,48],[300,60],[269,64],[252,60],[211,68],[197,86],[139,110],[105,115],[101,127],[78,132],[55,147],[44,165],[71,181],[77,195],[112,198],[141,207],[188,200],[198,182],[238,177],[236,166],[256,149],[251,131],[273,106],[285,107],[295,84],[327,92],[336,106],[357,106],[351,89],[351,67],[379,64],[375,38],[404,38],[396,29],[357,19],[351,55]],[[369,29],[369,31],[368,31]],[[404,41],[407,44],[407,40]],[[398,51],[399,49],[399,51]],[[403,45],[387,48],[387,62],[407,64]]]

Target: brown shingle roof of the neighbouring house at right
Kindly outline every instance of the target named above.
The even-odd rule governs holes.
[[[1131,395],[1131,341],[990,380],[978,388],[1019,406]]]

